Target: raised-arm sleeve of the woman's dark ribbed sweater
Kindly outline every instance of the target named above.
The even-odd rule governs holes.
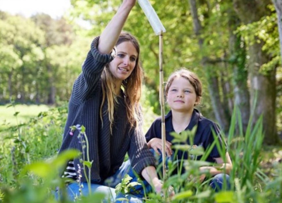
[[[115,49],[111,54],[101,54],[97,49],[98,42],[99,36],[92,41],[91,49],[82,64],[82,73],[74,82],[71,96],[74,101],[84,101],[95,91],[105,65],[115,57]]]

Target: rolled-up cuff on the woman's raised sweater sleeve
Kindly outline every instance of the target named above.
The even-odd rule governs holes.
[[[102,63],[110,63],[116,56],[116,49],[113,48],[112,52],[110,54],[101,54],[98,51],[98,42],[99,42],[100,36],[97,36],[94,38],[94,40],[91,43],[91,53],[95,60],[102,62]]]

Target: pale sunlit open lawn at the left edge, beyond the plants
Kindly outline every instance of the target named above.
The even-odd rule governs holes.
[[[7,125],[18,125],[27,122],[29,119],[37,116],[38,113],[48,111],[49,106],[41,105],[25,105],[17,104],[15,106],[4,105],[0,106],[0,129]],[[17,116],[15,113],[19,112]]]

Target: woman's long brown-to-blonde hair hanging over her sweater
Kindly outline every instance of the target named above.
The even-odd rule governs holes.
[[[143,80],[143,69],[139,62],[139,55],[140,55],[140,47],[139,43],[136,38],[131,35],[130,33],[121,33],[119,39],[117,41],[117,45],[121,44],[122,42],[131,42],[133,46],[137,50],[137,59],[135,67],[128,78],[122,81],[121,87],[124,89],[125,94],[125,105],[126,105],[126,114],[128,122],[130,126],[137,126],[138,123],[138,115],[141,112],[139,108],[139,100],[141,97],[141,84]],[[107,99],[108,102],[108,117],[110,120],[110,130],[112,132],[112,125],[114,121],[114,108],[117,102],[117,95],[115,94],[115,85],[113,83],[113,74],[110,72],[109,65],[106,65],[102,72],[102,104],[100,106],[100,118],[102,120],[102,107]]]

